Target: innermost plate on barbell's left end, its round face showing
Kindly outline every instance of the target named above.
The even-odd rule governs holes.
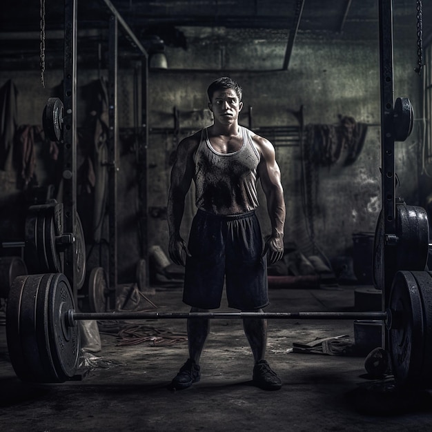
[[[48,334],[52,362],[60,382],[73,377],[79,357],[78,326],[66,325],[66,313],[75,310],[72,290],[62,273],[52,277],[48,291]]]

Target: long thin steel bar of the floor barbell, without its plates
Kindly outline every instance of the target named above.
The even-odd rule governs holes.
[[[184,319],[269,319],[269,320],[377,320],[386,322],[387,312],[66,312],[66,324],[79,320],[184,320]]]

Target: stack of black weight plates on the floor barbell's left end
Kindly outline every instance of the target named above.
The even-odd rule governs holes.
[[[6,337],[10,361],[26,382],[64,382],[77,371],[78,327],[66,326],[74,302],[61,273],[19,276],[10,288]]]

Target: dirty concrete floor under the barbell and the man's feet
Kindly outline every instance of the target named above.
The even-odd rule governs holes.
[[[352,311],[355,288],[274,289],[266,311]],[[161,312],[188,311],[178,286],[158,286],[148,298]],[[432,430],[428,392],[402,393],[368,380],[364,357],[291,352],[293,342],[344,334],[354,340],[352,321],[269,321],[267,360],[283,382],[270,392],[251,385],[253,360],[239,320],[211,322],[202,379],[177,392],[166,386],[187,358],[184,321],[130,322],[143,334],[178,337],[170,346],[117,346],[117,335],[101,333],[97,367],[81,381],[49,385],[14,375],[4,315],[2,322],[1,431]]]

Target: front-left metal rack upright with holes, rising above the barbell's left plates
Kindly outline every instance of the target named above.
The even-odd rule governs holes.
[[[75,233],[77,209],[77,0],[64,3],[63,231]],[[73,236],[72,236],[73,237]],[[75,239],[74,239],[75,242]],[[75,247],[65,251],[63,273],[77,298]]]

